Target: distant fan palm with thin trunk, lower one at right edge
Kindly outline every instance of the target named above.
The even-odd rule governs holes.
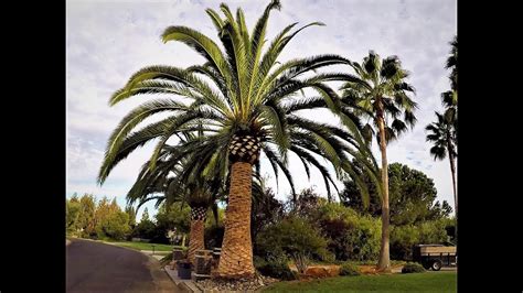
[[[450,162],[450,172],[452,174],[452,189],[456,215],[458,215],[458,192],[456,189],[456,158],[458,156],[456,145],[456,129],[451,121],[448,121],[444,115],[436,112],[436,122],[428,124],[425,129],[429,131],[427,141],[433,142],[430,154],[434,160],[445,160],[448,155]],[[457,229],[456,229],[457,234]]]

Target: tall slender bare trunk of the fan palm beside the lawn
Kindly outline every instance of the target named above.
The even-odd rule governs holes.
[[[382,106],[383,108],[383,106]],[[380,151],[382,153],[382,245],[380,248],[380,260],[377,269],[380,271],[391,271],[391,254],[389,254],[389,220],[391,215],[388,210],[388,165],[387,165],[387,142],[385,137],[385,121],[383,110],[377,115],[377,124],[380,128]]]

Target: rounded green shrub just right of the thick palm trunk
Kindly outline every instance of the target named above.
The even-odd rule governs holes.
[[[310,259],[328,259],[327,241],[308,221],[287,218],[268,226],[257,236],[257,256],[265,259],[287,256],[292,258],[300,273]]]

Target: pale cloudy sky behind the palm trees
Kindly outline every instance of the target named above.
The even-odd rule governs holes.
[[[217,11],[223,1],[156,0],[98,1],[67,0],[66,8],[66,95],[67,95],[67,196],[93,193],[97,197],[125,194],[153,144],[132,153],[118,165],[103,187],[96,175],[107,139],[119,120],[146,97],[108,107],[108,98],[141,67],[154,64],[189,66],[203,58],[181,43],[163,44],[161,32],[169,25],[188,25],[213,37],[215,31],[204,13]],[[252,28],[268,1],[226,1],[241,6]],[[381,56],[397,55],[412,73],[419,105],[417,126],[388,146],[388,161],[401,162],[434,178],[438,198],[453,204],[448,161],[435,162],[425,142],[424,128],[440,111],[439,94],[449,88],[444,64],[457,32],[456,0],[282,0],[271,14],[270,40],[286,25],[321,21],[327,26],[302,31],[286,47],[280,61],[317,54],[340,54],[360,62],[370,50]],[[374,153],[378,160],[377,150]],[[301,165],[290,160],[297,188],[316,185],[324,194],[322,181],[308,182]],[[265,164],[264,164],[265,165]],[[264,166],[263,165],[263,166]],[[270,170],[265,169],[267,174]],[[275,186],[275,180],[270,182]],[[288,184],[280,178],[278,196],[285,198]],[[152,204],[148,205],[154,214]],[[139,213],[141,214],[141,213]],[[138,215],[138,218],[140,215]]]

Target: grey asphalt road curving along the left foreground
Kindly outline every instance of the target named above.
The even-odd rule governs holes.
[[[66,250],[67,292],[181,292],[158,261],[138,251],[78,239]]]

